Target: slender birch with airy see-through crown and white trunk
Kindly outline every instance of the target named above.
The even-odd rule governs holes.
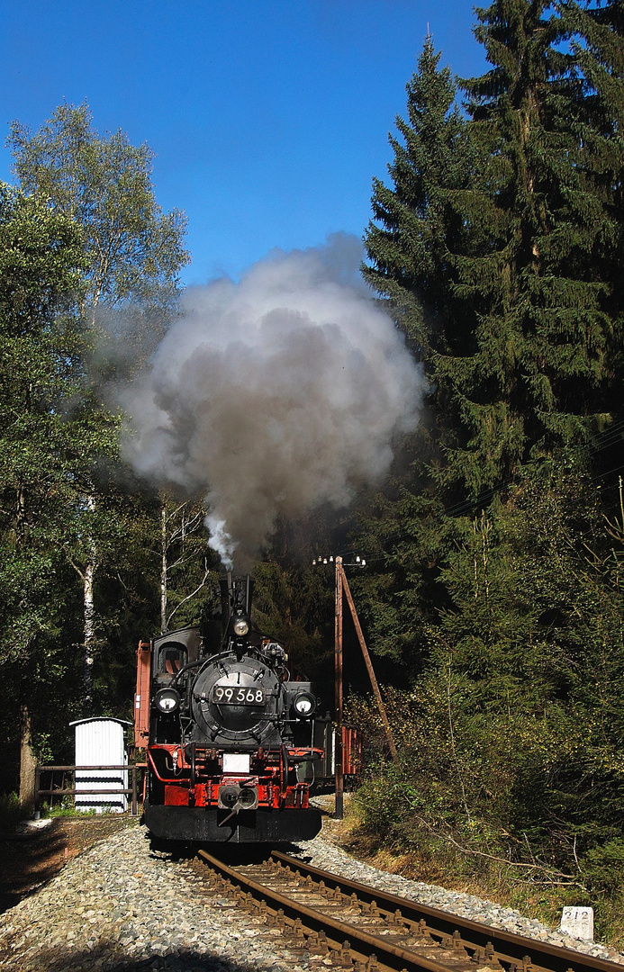
[[[166,329],[179,290],[178,273],[189,260],[183,247],[184,214],[163,213],[156,203],[154,153],[145,144],[133,146],[121,130],[100,135],[87,103],[60,105],[34,133],[14,121],[8,141],[22,188],[52,200],[55,210],[82,226],[87,256],[84,325],[100,356],[127,374],[128,367],[145,360]],[[94,488],[84,497],[88,514],[97,502]],[[86,709],[96,645],[98,546],[93,534],[85,536],[82,566],[72,560],[83,584]]]

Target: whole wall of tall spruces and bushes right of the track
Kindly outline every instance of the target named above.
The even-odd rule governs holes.
[[[370,645],[408,687],[386,692],[398,765],[374,707],[350,702],[368,737],[355,802],[433,880],[446,860],[486,886],[568,888],[564,903],[614,927],[621,3],[496,0],[476,17],[489,67],[462,83],[465,115],[428,38],[392,186],[373,183],[364,272],[432,387],[425,428],[361,513]]]

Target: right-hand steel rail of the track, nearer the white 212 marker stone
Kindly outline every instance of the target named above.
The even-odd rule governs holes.
[[[468,945],[468,948],[484,948],[491,942],[497,957],[502,959],[505,964],[522,965],[528,959],[534,967],[547,969],[548,972],[568,972],[568,970],[574,970],[574,972],[587,972],[587,970],[591,970],[591,972],[615,972],[619,967],[616,962],[607,961],[604,958],[574,952],[572,949],[550,945],[547,942],[540,942],[524,935],[515,935],[513,932],[504,931],[502,928],[494,928],[480,921],[472,921],[450,912],[440,911],[430,905],[419,904],[417,901],[399,897],[397,894],[380,890],[377,887],[362,885],[330,871],[313,867],[298,857],[292,857],[281,851],[273,851],[271,857],[282,864],[286,864],[303,877],[309,876],[313,880],[323,881],[327,886],[343,892],[355,893],[360,900],[368,904],[375,901],[377,905],[391,912],[399,909],[402,917],[406,920],[416,922],[425,920],[428,930],[433,935],[452,935],[454,931],[459,931],[462,942]],[[486,963],[484,962],[484,964]]]

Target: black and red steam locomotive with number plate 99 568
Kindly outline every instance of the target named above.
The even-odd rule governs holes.
[[[139,642],[135,744],[147,749],[144,822],[153,845],[310,840],[301,764],[314,746],[312,685],[251,624],[250,577],[222,580],[222,623]],[[298,773],[297,773],[298,768]]]

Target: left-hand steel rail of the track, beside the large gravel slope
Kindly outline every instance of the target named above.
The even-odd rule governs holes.
[[[363,958],[365,960],[374,956],[380,964],[399,970],[399,972],[406,967],[420,969],[422,972],[449,972],[449,968],[457,967],[455,962],[436,962],[411,949],[393,945],[381,936],[371,935],[364,928],[349,924],[346,921],[336,920],[315,908],[309,908],[294,898],[255,881],[244,872],[229,867],[224,861],[219,860],[207,851],[197,851],[197,853],[210,864],[213,870],[236,884],[248,887],[254,895],[258,895],[267,905],[270,902],[274,911],[281,909],[285,915],[288,914],[292,919],[300,920],[303,918],[305,925],[312,931],[324,931],[328,943],[333,946],[334,951],[344,952],[345,949],[348,949],[360,961]]]

